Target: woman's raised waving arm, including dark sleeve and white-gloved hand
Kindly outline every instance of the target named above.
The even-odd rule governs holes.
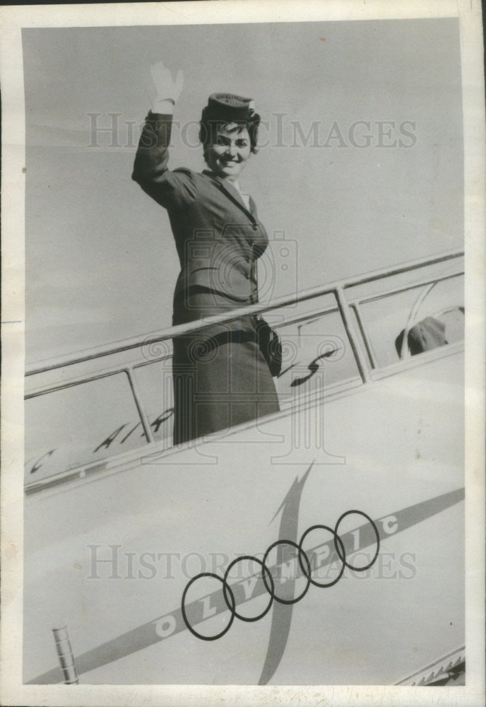
[[[172,81],[169,69],[162,62],[150,66],[149,88],[152,110],[146,117],[131,175],[143,191],[169,209],[181,205],[191,196],[190,173],[187,170],[170,172],[168,147],[172,129],[172,113],[182,90],[182,70]]]

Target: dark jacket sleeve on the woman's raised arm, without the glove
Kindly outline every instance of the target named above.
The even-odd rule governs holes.
[[[185,206],[196,197],[191,170],[167,169],[172,115],[149,112],[143,126],[131,178],[165,209]]]

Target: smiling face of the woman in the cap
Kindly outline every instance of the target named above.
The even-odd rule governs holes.
[[[208,145],[206,162],[218,177],[237,180],[251,153],[247,128],[240,123],[227,123],[218,129],[216,140]]]

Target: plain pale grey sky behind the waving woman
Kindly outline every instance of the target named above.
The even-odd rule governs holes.
[[[172,168],[205,167],[210,93],[256,100],[269,300],[462,247],[459,49],[455,18],[24,29],[27,363],[170,326],[169,221],[131,180],[151,63],[184,71]]]

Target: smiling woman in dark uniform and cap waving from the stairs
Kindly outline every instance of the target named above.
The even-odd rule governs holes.
[[[238,178],[256,152],[260,118],[248,98],[211,95],[200,129],[208,169],[170,171],[182,72],[172,81],[160,62],[151,74],[156,95],[132,176],[169,214],[181,265],[172,317],[179,325],[258,302],[256,259],[268,236]],[[278,411],[260,327],[268,334],[265,322],[246,316],[174,339],[174,444]]]

